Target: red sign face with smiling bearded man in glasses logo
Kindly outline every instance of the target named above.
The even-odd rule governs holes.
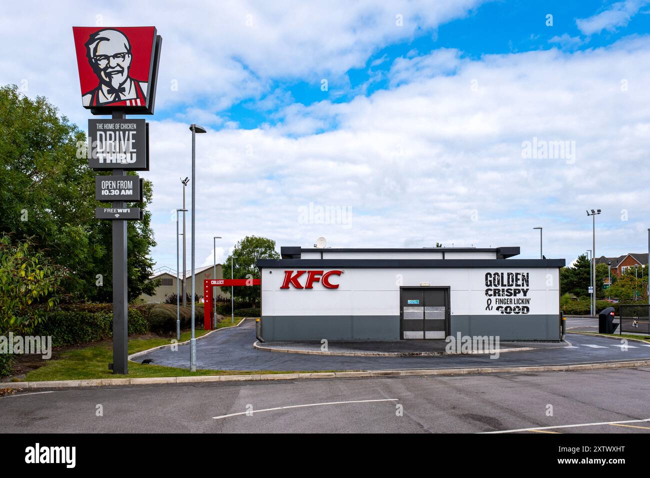
[[[154,27],[75,27],[83,105],[148,107],[153,74]]]

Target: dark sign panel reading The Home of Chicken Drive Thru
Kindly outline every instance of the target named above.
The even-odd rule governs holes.
[[[149,128],[145,120],[88,120],[88,166],[149,170]]]

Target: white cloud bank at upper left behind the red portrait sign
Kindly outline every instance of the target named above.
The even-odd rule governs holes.
[[[201,103],[214,113],[259,98],[272,79],[341,77],[381,47],[465,16],[482,1],[112,0],[91,7],[79,0],[62,8],[25,0],[0,17],[0,83],[27,81],[27,94],[47,96],[84,124],[72,26],[155,25],[163,37],[157,111]]]

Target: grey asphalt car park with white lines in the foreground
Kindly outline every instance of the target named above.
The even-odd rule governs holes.
[[[0,431],[647,433],[649,373],[645,367],[19,392],[0,397]]]

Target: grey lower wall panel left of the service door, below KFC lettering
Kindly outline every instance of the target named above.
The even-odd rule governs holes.
[[[263,315],[262,338],[274,340],[399,340],[399,315]]]

